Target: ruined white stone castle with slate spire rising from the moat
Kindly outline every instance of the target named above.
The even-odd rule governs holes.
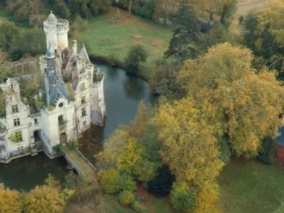
[[[104,74],[95,69],[84,46],[78,51],[76,40],[69,49],[69,21],[56,18],[51,12],[43,29],[47,52],[38,60],[41,81],[34,95],[38,110],[31,110],[21,97],[21,77],[0,84],[5,91],[5,116],[0,118],[2,163],[38,151],[54,158],[54,146],[65,145],[91,125],[104,123]],[[29,79],[34,74],[23,77]],[[63,79],[69,81],[65,83]]]

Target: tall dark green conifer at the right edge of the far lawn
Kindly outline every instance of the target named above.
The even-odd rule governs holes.
[[[174,34],[164,57],[174,57],[177,62],[181,63],[187,58],[198,56],[200,23],[193,8],[189,5],[180,7],[173,20],[173,25]]]

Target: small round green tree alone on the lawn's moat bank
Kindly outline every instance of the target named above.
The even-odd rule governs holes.
[[[136,73],[139,69],[139,65],[147,60],[147,52],[143,45],[138,44],[130,47],[125,64],[126,69],[132,73]]]

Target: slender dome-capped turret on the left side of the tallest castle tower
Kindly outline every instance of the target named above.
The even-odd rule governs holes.
[[[58,38],[57,38],[57,18],[50,12],[47,20],[43,22],[43,30],[46,34],[47,39],[47,50],[51,49],[52,53],[57,53],[58,51]]]

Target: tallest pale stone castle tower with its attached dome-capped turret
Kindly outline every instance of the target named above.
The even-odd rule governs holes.
[[[58,54],[68,47],[69,21],[56,16],[50,12],[47,20],[43,22],[43,30],[46,34],[47,49]]]

